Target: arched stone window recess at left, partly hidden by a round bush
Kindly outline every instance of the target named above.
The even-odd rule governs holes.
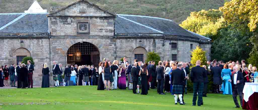
[[[30,51],[25,48],[18,48],[14,51],[14,64],[18,65],[24,57],[31,57]]]

